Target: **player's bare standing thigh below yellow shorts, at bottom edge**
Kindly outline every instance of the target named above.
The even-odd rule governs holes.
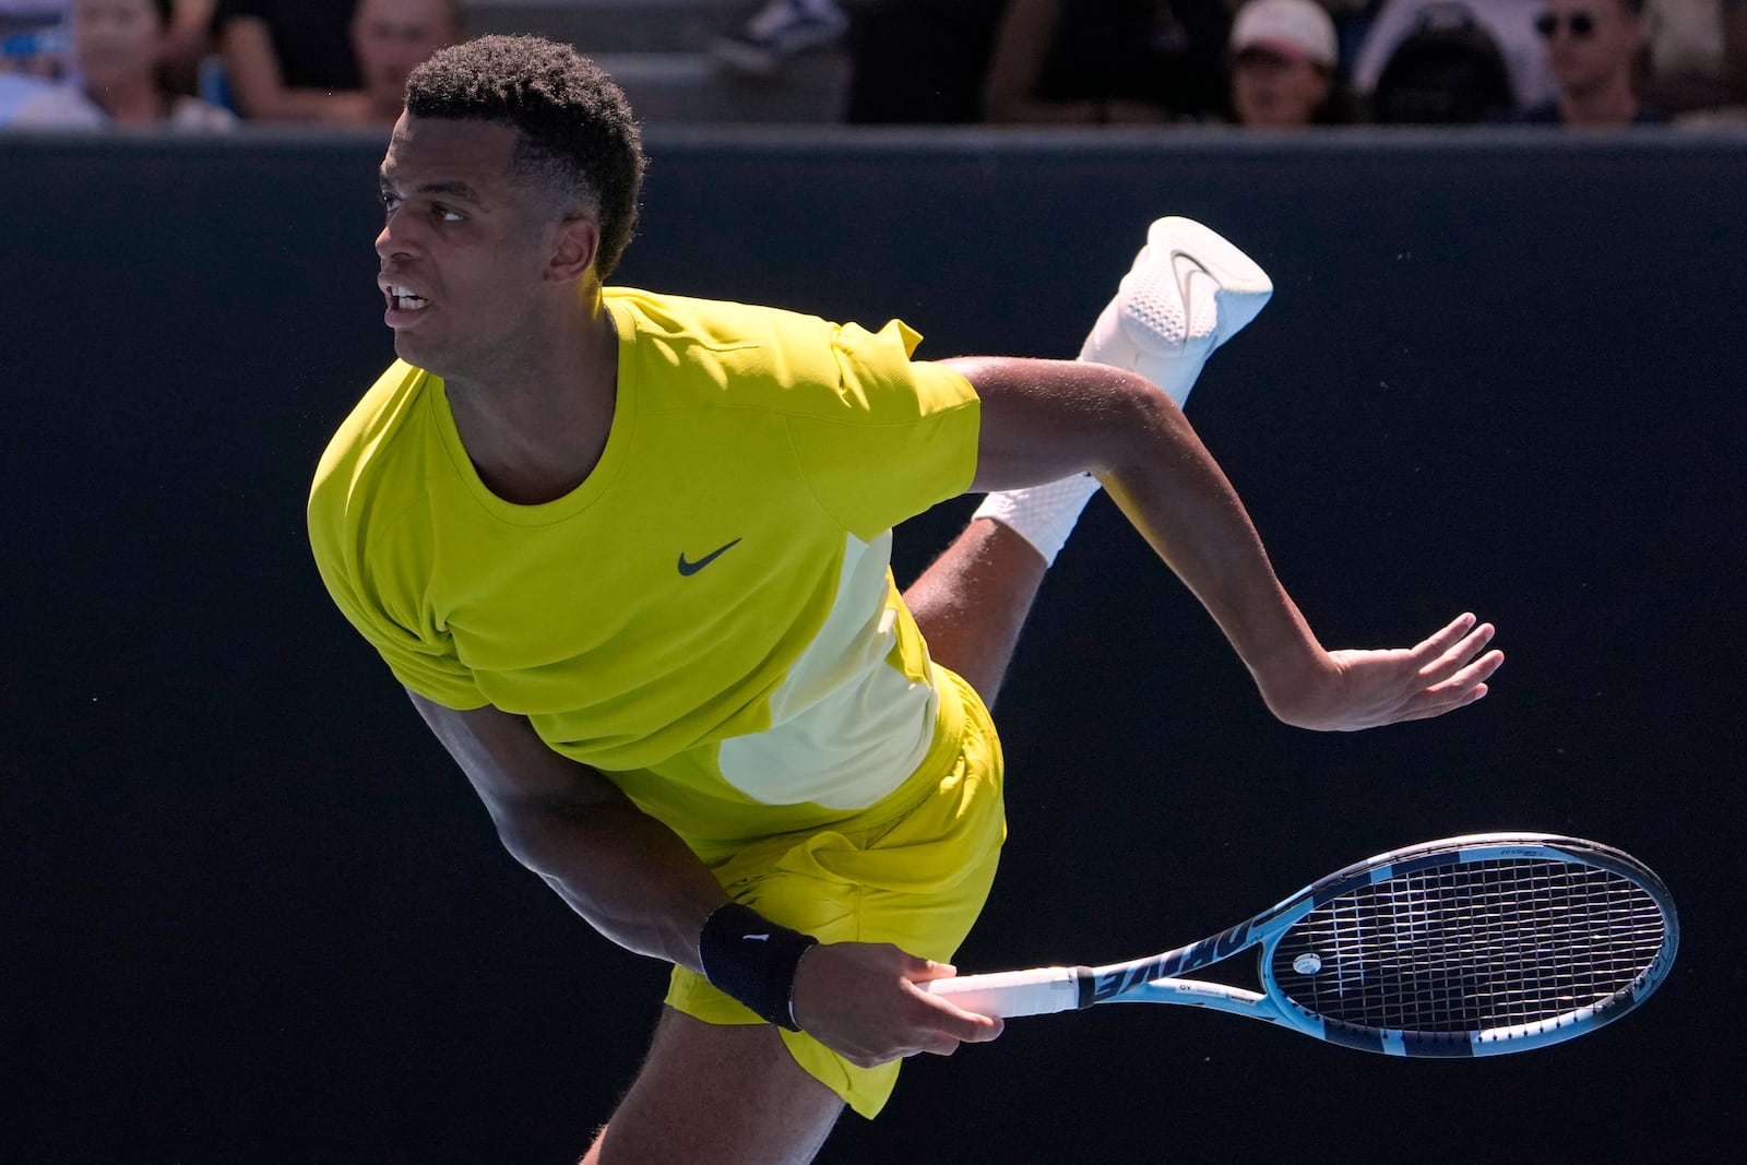
[[[769,1024],[664,1008],[643,1069],[582,1165],[802,1165],[842,1109]]]

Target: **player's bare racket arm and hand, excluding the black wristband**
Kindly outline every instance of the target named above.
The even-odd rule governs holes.
[[[599,772],[554,753],[524,716],[409,695],[517,861],[620,947],[704,971],[699,933],[728,898],[673,830]],[[952,973],[887,943],[825,943],[797,968],[795,1018],[865,1067],[994,1039],[999,1020],[914,985]]]

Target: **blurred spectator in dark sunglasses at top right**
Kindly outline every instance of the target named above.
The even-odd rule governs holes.
[[[1644,52],[1644,0],[1544,0],[1536,33],[1558,82],[1558,96],[1515,121],[1562,126],[1665,122],[1639,101],[1633,72]]]

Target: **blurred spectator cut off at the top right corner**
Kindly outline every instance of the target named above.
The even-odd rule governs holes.
[[[1747,105],[1747,0],[1647,0],[1644,100],[1668,114]]]

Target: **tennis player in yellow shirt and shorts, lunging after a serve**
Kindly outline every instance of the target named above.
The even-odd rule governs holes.
[[[1155,224],[1081,362],[919,362],[896,321],[604,286],[641,171],[570,47],[487,37],[412,73],[376,243],[400,358],[309,531],[510,852],[673,964],[585,1160],[805,1162],[903,1057],[1001,1031],[915,985],[954,975],[994,877],[987,704],[1099,482],[1289,723],[1436,716],[1501,657],[1467,615],[1412,650],[1312,636],[1160,388],[1270,290],[1211,231]],[[964,491],[996,493],[900,594],[891,527]]]

